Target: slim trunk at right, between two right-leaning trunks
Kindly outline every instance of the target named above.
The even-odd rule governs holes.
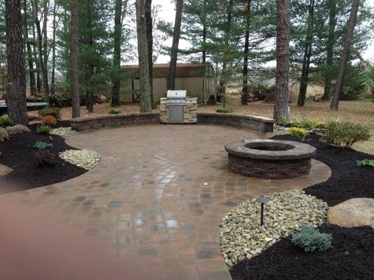
[[[323,97],[322,97],[322,99],[325,101],[330,100],[332,81],[333,81],[333,55],[334,55],[334,43],[335,43],[335,27],[336,27],[336,21],[337,21],[336,1],[337,0],[328,0],[328,7],[330,9],[330,13],[328,17],[325,87],[323,90]]]

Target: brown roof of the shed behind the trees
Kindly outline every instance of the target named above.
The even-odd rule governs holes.
[[[131,78],[139,78],[139,65],[122,65],[121,69],[125,69],[130,74]],[[206,65],[193,63],[178,63],[175,78],[189,78],[204,76]],[[169,64],[153,64],[152,77],[153,78],[168,78]]]

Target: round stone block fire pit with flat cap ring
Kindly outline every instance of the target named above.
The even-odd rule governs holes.
[[[309,174],[316,148],[294,141],[249,139],[225,146],[229,168],[245,176],[289,179]]]

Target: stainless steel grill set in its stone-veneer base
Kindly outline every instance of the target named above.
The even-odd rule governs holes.
[[[161,123],[196,123],[196,97],[186,97],[185,90],[168,90],[167,96],[160,99]]]

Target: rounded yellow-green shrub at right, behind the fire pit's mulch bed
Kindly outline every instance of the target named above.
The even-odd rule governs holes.
[[[326,135],[322,140],[341,148],[351,148],[354,143],[367,141],[370,137],[366,125],[330,121],[326,123]]]

